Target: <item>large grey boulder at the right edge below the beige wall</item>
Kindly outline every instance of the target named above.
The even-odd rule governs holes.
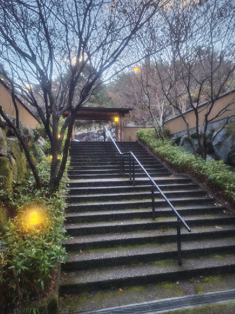
[[[228,124],[212,142],[213,149],[218,158],[235,166],[235,129],[234,122]],[[217,130],[214,131],[214,134]]]

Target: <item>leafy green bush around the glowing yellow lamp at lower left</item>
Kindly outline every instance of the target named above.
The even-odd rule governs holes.
[[[42,183],[50,180],[50,156],[37,165]],[[68,164],[67,164],[68,166]],[[66,168],[67,170],[67,168]],[[10,205],[17,215],[7,223],[0,223],[0,300],[3,304],[17,299],[32,300],[46,291],[51,273],[58,261],[65,260],[66,171],[60,187],[51,199],[45,198],[47,189],[35,189],[32,172],[24,184],[10,196]],[[29,215],[36,211],[37,225],[29,224]]]

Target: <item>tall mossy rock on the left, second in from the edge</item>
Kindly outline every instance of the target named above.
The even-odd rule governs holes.
[[[13,180],[21,183],[26,175],[26,158],[16,138],[8,138],[8,158],[13,167]]]

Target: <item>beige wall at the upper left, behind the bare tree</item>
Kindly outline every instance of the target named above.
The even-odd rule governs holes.
[[[39,124],[39,121],[21,104],[21,102],[16,99],[16,104],[19,111],[19,120],[22,124],[35,129]],[[0,105],[3,107],[3,110],[11,116],[16,116],[15,107],[12,101],[11,93],[0,82]]]

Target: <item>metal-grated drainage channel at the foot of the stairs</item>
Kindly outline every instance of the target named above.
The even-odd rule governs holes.
[[[154,314],[180,310],[187,307],[232,301],[235,301],[235,289],[110,307],[101,310],[80,312],[79,314]]]

